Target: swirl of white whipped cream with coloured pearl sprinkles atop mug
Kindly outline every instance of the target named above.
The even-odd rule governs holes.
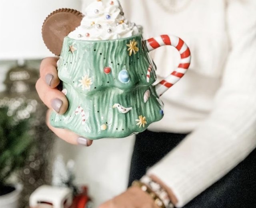
[[[78,40],[113,40],[141,32],[141,27],[125,19],[118,0],[94,0],[83,14],[81,25],[68,37]]]

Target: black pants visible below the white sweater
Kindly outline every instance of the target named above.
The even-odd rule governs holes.
[[[186,134],[144,131],[136,136],[129,186],[171,151]],[[256,208],[256,149],[184,208]]]

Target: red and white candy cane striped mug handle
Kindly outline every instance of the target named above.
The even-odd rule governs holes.
[[[174,46],[180,53],[180,64],[168,77],[156,84],[156,93],[161,96],[166,90],[173,86],[188,71],[191,61],[190,50],[187,44],[177,36],[161,35],[145,41],[148,51],[152,51],[164,45]]]

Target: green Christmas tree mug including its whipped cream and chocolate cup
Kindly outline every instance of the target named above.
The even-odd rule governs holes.
[[[58,76],[69,101],[64,115],[51,114],[51,125],[90,139],[146,130],[164,116],[159,97],[188,70],[188,46],[174,35],[144,40],[117,0],[95,0],[84,13],[56,10],[43,25],[46,46],[60,55]],[[156,67],[148,53],[165,45],[176,47],[180,64],[154,85]]]

